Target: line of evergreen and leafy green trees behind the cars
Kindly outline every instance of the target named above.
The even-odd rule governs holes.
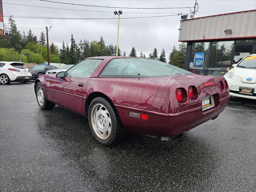
[[[34,35],[30,29],[27,34],[23,31],[18,31],[16,22],[12,16],[8,19],[8,24],[11,26],[12,36],[6,39],[0,39],[0,60],[2,61],[19,61],[29,63],[42,63],[47,61],[47,47],[46,36],[44,32],[40,33],[39,38]],[[85,38],[76,42],[73,34],[71,34],[70,43],[62,42],[60,50],[52,42],[50,44],[50,62],[64,63],[64,64],[76,64],[80,60],[94,56],[116,56],[116,45],[106,45],[103,37],[100,40],[94,40],[89,42]],[[186,55],[186,44],[181,43],[176,49],[174,46],[169,55],[169,64],[184,67],[184,60]],[[121,52],[118,46],[118,56],[133,56],[146,58],[145,53],[140,51],[137,54],[135,47],[132,47],[130,52]],[[165,50],[162,49],[158,57],[158,51],[156,48],[147,58],[157,59],[162,62],[166,62]]]

